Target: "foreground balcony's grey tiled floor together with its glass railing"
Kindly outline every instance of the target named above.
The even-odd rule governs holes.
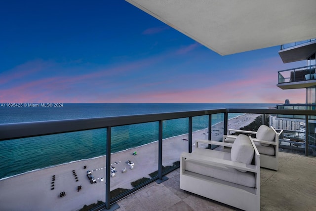
[[[301,115],[309,126],[309,117],[315,111],[230,108],[0,125],[0,144],[6,147],[2,145],[0,153],[4,177],[16,174],[11,172],[13,166],[18,169],[32,163],[43,165],[40,170],[29,169],[27,173],[21,171],[21,175],[0,180],[1,210],[79,210],[98,200],[105,202],[100,203],[100,209],[209,210],[212,206],[234,209],[181,191],[178,182],[181,152],[192,152],[197,138],[220,141],[220,134],[227,134],[232,127],[230,114],[253,114],[261,117],[263,124],[269,124],[267,117],[271,114]],[[129,139],[136,127],[138,131],[146,128],[138,136],[149,139],[144,146],[130,145],[138,141]],[[186,132],[167,134],[168,127],[184,127]],[[309,128],[306,127],[306,134],[310,133]],[[170,139],[172,136],[175,138]],[[100,145],[96,142],[99,137],[104,140]],[[120,140],[126,141],[124,150],[118,151]],[[315,155],[315,143],[307,140],[290,150],[282,148],[290,142],[281,141],[280,169],[262,169],[261,209],[308,210],[314,206],[316,196],[312,179],[316,173],[315,158],[309,156]],[[37,149],[28,160],[23,144]],[[89,152],[95,145],[100,151],[84,157],[83,150]],[[54,153],[56,147],[64,153]],[[295,154],[286,153],[291,151]],[[68,156],[70,162],[58,163]],[[73,160],[72,156],[79,159]],[[128,161],[134,163],[133,168]],[[90,183],[89,173],[96,183],[93,180]]]

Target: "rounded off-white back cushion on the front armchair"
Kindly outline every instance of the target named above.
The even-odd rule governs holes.
[[[248,136],[239,134],[231,150],[232,161],[250,164],[253,159],[254,149]],[[240,170],[241,172],[246,172]]]

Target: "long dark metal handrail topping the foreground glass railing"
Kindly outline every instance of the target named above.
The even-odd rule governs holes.
[[[40,135],[50,135],[64,132],[74,132],[105,127],[116,127],[133,125],[139,123],[156,122],[163,120],[211,115],[219,113],[254,113],[254,114],[293,114],[293,115],[316,115],[316,111],[311,110],[287,110],[287,109],[213,109],[157,114],[143,114],[117,117],[86,118],[73,120],[56,120],[30,123],[10,123],[0,124],[0,141],[34,137]]]

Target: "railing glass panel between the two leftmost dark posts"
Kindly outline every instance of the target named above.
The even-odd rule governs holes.
[[[158,122],[112,127],[111,199],[152,179],[158,170]]]

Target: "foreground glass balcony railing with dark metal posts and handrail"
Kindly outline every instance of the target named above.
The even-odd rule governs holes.
[[[179,168],[180,154],[194,150],[195,139],[221,141],[228,128],[250,121],[230,123],[242,114],[256,114],[261,119],[255,123],[265,125],[272,124],[271,116],[305,117],[301,133],[314,140],[296,141],[303,136],[294,131],[280,139],[280,150],[315,155],[312,110],[230,108],[2,124],[1,208],[79,210],[99,203],[98,209],[109,209],[145,185],[167,179]]]

